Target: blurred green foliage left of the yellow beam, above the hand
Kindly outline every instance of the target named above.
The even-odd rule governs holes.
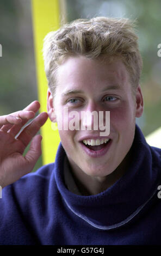
[[[38,100],[30,1],[1,0],[0,24],[0,115],[4,115]],[[33,171],[40,166],[41,157]]]

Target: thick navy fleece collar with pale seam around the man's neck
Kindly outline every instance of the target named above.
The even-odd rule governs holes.
[[[160,185],[161,150],[150,147],[139,127],[131,147],[132,160],[127,172],[107,190],[80,196],[67,190],[64,182],[65,150],[59,144],[55,159],[55,180],[67,207],[99,229],[113,229],[127,223],[150,201]]]

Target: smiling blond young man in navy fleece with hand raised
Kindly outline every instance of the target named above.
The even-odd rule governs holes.
[[[27,174],[41,154],[41,136],[35,134],[47,113],[16,139],[39,102],[0,118],[0,243],[160,245],[161,150],[150,147],[135,124],[143,95],[133,23],[73,21],[46,36],[44,60],[48,116],[58,123],[61,143],[55,163]],[[102,126],[110,125],[110,133],[101,136],[94,116],[82,118],[82,112],[103,113]],[[69,129],[73,113],[74,125],[85,129]]]

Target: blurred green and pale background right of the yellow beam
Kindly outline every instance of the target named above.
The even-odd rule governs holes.
[[[144,114],[137,118],[144,135],[161,126],[161,58],[157,56],[161,43],[160,0],[66,0],[67,21],[96,16],[137,19],[137,35],[143,57],[140,79],[144,95]]]

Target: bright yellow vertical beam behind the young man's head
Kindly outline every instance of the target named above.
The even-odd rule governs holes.
[[[32,0],[32,18],[35,48],[36,76],[38,82],[38,96],[40,111],[47,111],[47,79],[44,70],[42,47],[45,35],[57,30],[60,26],[60,10],[58,0]],[[41,129],[42,161],[43,164],[54,162],[60,137],[58,131],[52,130],[52,123],[48,119]]]

